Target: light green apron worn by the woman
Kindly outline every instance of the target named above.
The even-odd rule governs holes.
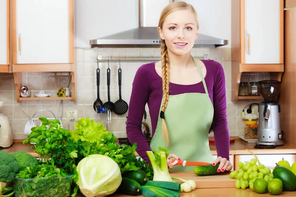
[[[213,121],[214,107],[200,67],[192,58],[202,79],[206,94],[185,93],[170,95],[165,110],[165,122],[170,143],[166,146],[162,137],[161,118],[158,116],[150,148],[166,147],[183,161],[213,163],[208,133]],[[161,110],[161,107],[160,107]],[[159,111],[160,111],[159,110]],[[195,166],[176,165],[170,171],[193,171]]]

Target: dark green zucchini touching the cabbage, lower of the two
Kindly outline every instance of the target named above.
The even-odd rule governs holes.
[[[117,193],[126,194],[129,196],[138,196],[140,195],[141,185],[130,178],[122,177],[121,184],[116,190]]]

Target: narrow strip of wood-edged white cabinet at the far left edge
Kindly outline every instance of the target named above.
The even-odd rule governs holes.
[[[0,0],[0,72],[11,72],[9,0]]]

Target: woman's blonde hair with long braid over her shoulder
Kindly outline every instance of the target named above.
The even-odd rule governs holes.
[[[163,23],[168,15],[175,11],[179,10],[190,10],[196,17],[196,24],[197,24],[197,30],[199,29],[199,22],[198,22],[198,16],[194,9],[194,7],[191,4],[187,4],[183,1],[173,2],[167,5],[161,12],[158,27],[162,29]],[[169,144],[169,131],[167,129],[165,120],[164,120],[164,112],[166,110],[166,107],[168,105],[169,101],[169,75],[170,75],[170,60],[168,55],[168,49],[165,43],[165,40],[161,40],[161,68],[162,68],[162,92],[163,92],[163,102],[162,107],[160,111],[160,118],[162,119],[162,136],[164,138],[164,141],[166,145]]]

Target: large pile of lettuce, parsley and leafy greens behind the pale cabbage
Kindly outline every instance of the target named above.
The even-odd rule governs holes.
[[[152,167],[134,154],[137,145],[121,147],[115,144],[116,137],[104,125],[90,118],[81,118],[75,124],[76,130],[68,131],[61,128],[58,120],[44,117],[39,120],[42,125],[32,128],[23,143],[35,143],[32,148],[43,163],[49,164],[51,158],[61,170],[73,175],[73,197],[79,190],[77,165],[90,155],[108,156],[118,165],[120,173],[141,169],[148,179],[153,178]]]

